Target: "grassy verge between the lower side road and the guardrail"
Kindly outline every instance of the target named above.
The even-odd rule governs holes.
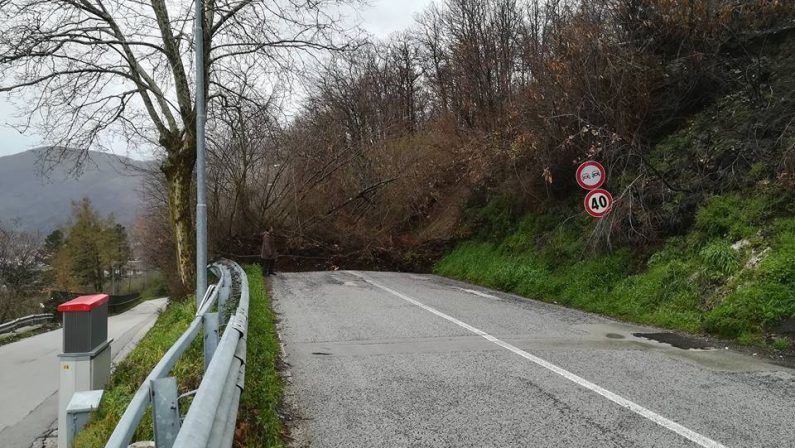
[[[188,328],[195,313],[196,305],[193,300],[169,304],[158,317],[155,326],[116,367],[102,397],[99,410],[86,429],[75,439],[75,448],[105,446],[135,391],[174,341]],[[201,381],[202,370],[202,341],[201,338],[197,338],[172,370],[172,375],[177,378],[179,392],[196,389]],[[146,413],[138,427],[135,440],[154,440],[151,410]]]

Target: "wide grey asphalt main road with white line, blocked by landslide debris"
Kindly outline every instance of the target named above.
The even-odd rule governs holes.
[[[430,275],[280,274],[304,447],[795,447],[795,371]]]

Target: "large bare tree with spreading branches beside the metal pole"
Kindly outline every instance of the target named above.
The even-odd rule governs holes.
[[[350,0],[354,3],[357,0]],[[207,0],[209,119],[230,103],[264,104],[283,78],[346,34],[336,0]],[[193,282],[196,158],[192,0],[0,0],[0,92],[20,95],[49,157],[79,165],[120,137],[164,152],[177,268]],[[337,13],[335,13],[335,11]],[[241,94],[242,93],[242,94]]]

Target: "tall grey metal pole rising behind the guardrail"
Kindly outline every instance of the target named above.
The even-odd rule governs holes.
[[[207,110],[204,97],[204,0],[195,0],[196,19],[196,304],[207,290],[207,191],[204,178],[204,124]]]

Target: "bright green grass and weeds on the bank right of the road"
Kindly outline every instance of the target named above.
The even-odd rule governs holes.
[[[502,213],[494,213],[496,225]],[[529,215],[504,238],[461,243],[435,271],[525,297],[644,324],[768,343],[795,315],[795,209],[786,191],[706,201],[691,230],[650,256],[589,249],[594,222]]]

